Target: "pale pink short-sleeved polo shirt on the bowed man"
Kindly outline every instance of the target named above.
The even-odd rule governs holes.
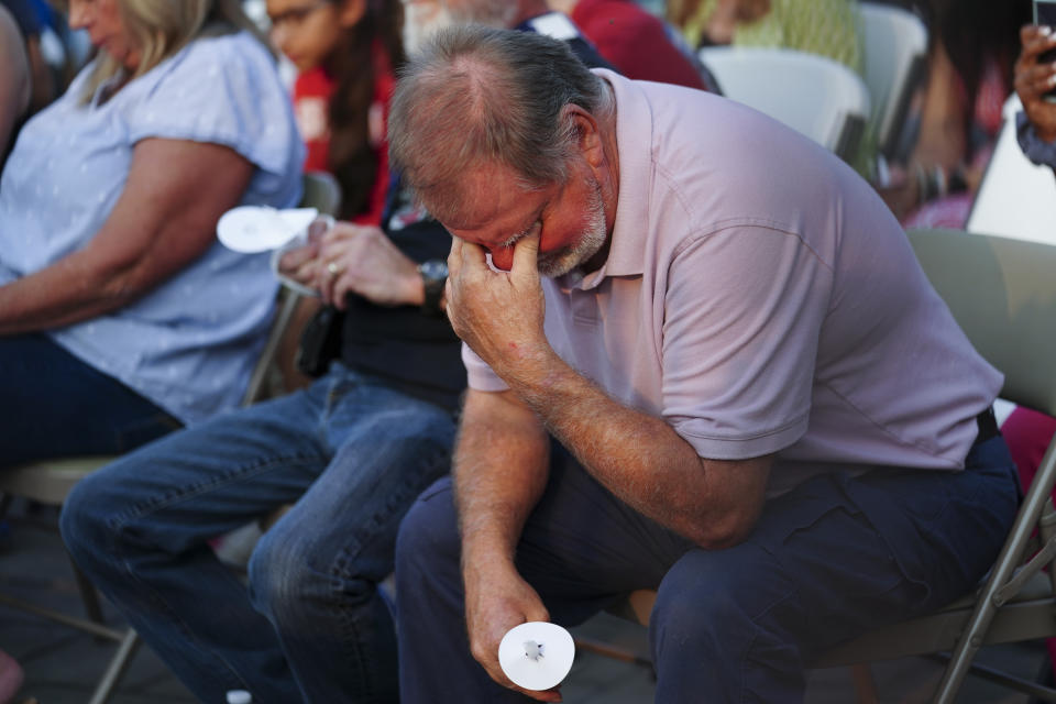
[[[703,458],[778,453],[771,495],[835,469],[963,468],[1002,376],[872,188],[746,107],[595,73],[619,200],[605,265],[543,282],[558,354]],[[505,388],[463,358],[471,387]]]

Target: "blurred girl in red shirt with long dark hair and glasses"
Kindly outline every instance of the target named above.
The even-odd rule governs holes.
[[[403,64],[399,0],[267,0],[272,42],[298,69],[294,113],[305,170],[333,174],[339,216],[380,224],[388,186],[385,117]]]

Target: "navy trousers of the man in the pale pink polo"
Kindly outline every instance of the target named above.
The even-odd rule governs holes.
[[[969,592],[997,558],[1016,504],[997,437],[977,444],[959,473],[816,476],[767,502],[745,542],[708,551],[634,512],[558,448],[516,561],[563,626],[634,590],[658,590],[657,702],[801,702],[804,666],[820,652]],[[438,691],[451,702],[528,702],[470,654],[459,554],[442,479],[397,540],[402,702],[435,702]]]

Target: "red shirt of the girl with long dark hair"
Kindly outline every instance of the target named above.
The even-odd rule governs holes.
[[[330,168],[330,97],[337,81],[324,68],[318,66],[297,76],[294,84],[294,114],[300,136],[307,147],[304,169],[306,172],[331,172]],[[396,79],[381,45],[374,46],[374,100],[367,116],[367,132],[371,146],[377,155],[377,170],[365,210],[352,218],[358,224],[381,224],[388,190],[388,142],[385,139],[388,122],[388,103],[393,97]]]

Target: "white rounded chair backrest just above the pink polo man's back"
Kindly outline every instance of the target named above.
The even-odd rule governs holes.
[[[787,48],[705,47],[701,62],[723,95],[805,134],[844,160],[870,114],[861,77],[825,56]]]

